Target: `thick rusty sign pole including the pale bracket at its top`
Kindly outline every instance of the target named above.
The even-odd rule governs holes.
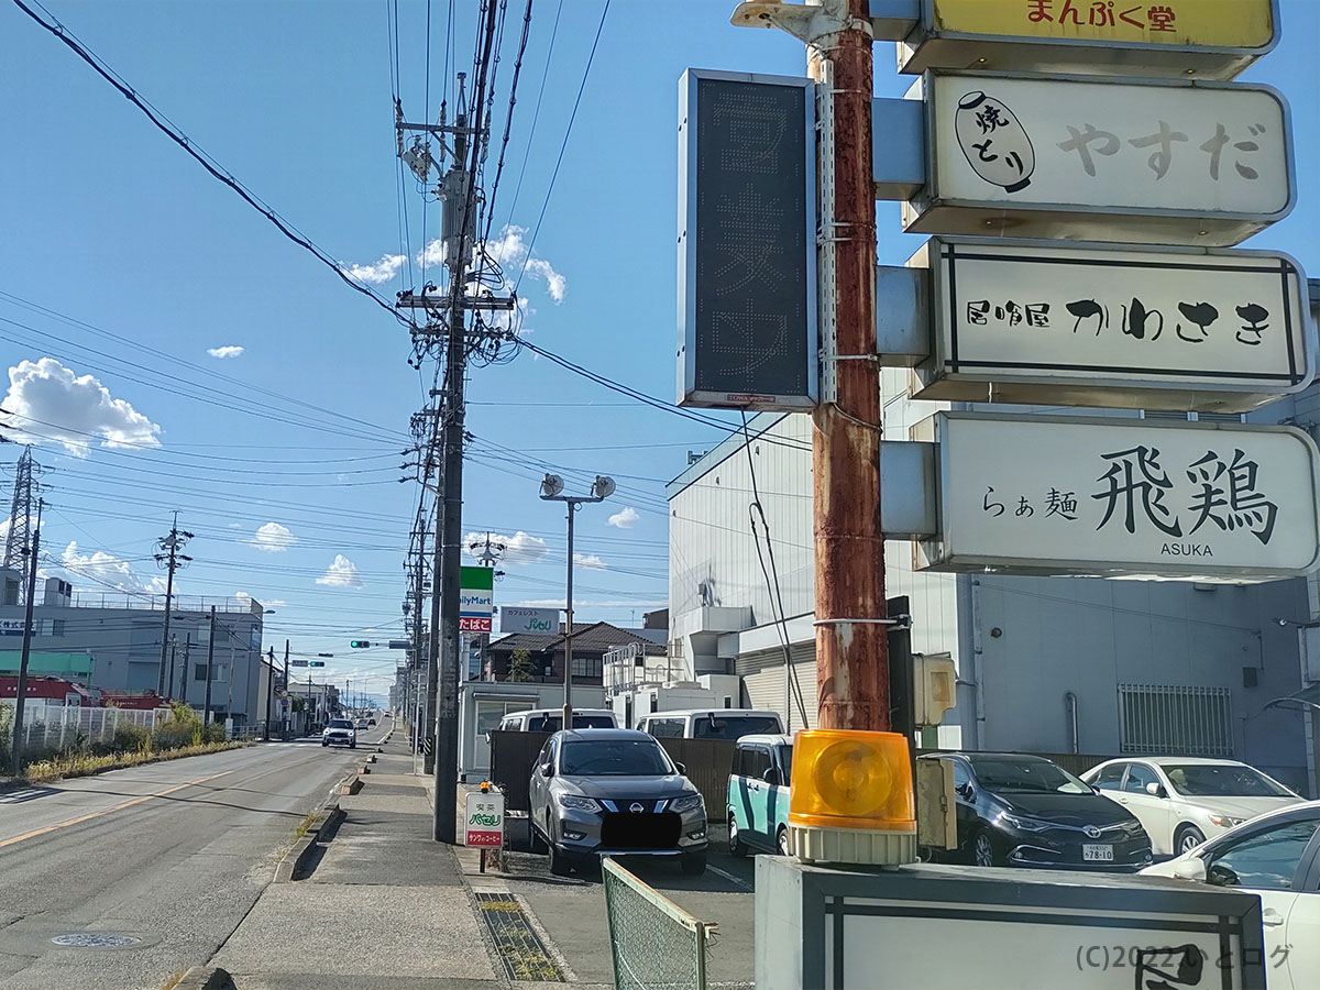
[[[888,731],[870,3],[748,0],[733,24],[779,28],[804,41],[808,71],[818,83],[824,380],[812,413],[818,725]]]

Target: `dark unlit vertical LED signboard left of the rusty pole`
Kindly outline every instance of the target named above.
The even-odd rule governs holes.
[[[678,404],[816,405],[810,79],[678,83]]]

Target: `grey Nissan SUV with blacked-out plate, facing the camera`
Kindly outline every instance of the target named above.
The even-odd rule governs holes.
[[[562,876],[605,854],[678,857],[706,870],[706,804],[651,735],[631,729],[554,733],[532,768],[533,843]]]

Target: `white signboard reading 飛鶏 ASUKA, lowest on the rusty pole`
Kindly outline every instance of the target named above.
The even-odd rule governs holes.
[[[937,413],[913,434],[940,445],[917,569],[1243,582],[1320,564],[1320,454],[1291,426]]]

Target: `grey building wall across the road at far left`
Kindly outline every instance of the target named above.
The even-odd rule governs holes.
[[[147,599],[143,602],[145,605]],[[91,653],[95,659],[91,676],[94,688],[156,690],[165,611],[164,601],[150,603],[156,607],[116,609],[38,603],[33,607],[36,635],[32,639],[32,649]],[[187,601],[181,601],[170,618],[170,639],[176,643],[174,677],[165,693],[182,698],[198,709],[202,708],[206,696],[209,601],[206,605],[206,609],[198,609]],[[259,711],[257,706],[261,605],[234,598],[215,599],[215,605],[213,715],[223,719],[226,714],[232,713],[240,725],[260,721],[264,717],[264,708]],[[21,606],[0,605],[0,620],[21,623],[22,619]],[[5,638],[7,648],[17,649],[20,643],[18,636]],[[166,673],[169,673],[169,656],[166,656]]]

